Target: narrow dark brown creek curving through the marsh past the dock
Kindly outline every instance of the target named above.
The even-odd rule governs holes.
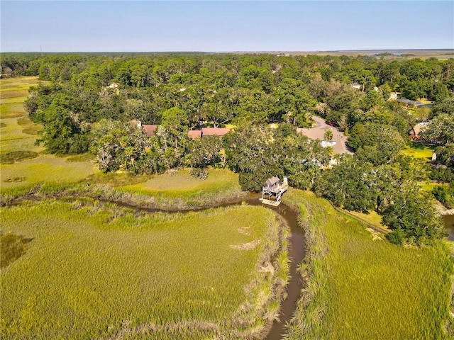
[[[188,210],[161,210],[155,208],[140,208],[135,205],[131,205],[123,202],[115,202],[111,200],[100,200],[105,203],[114,203],[120,207],[131,208],[133,210],[138,210],[139,212],[191,212],[191,211],[201,211],[210,208],[219,208],[219,207],[228,207],[230,205],[240,205],[242,203],[247,203],[248,205],[262,205],[265,208],[273,210],[277,215],[282,217],[282,219],[287,223],[291,234],[289,238],[289,259],[290,263],[290,279],[289,284],[287,285],[287,298],[281,302],[281,309],[279,311],[279,320],[275,321],[272,324],[272,327],[265,337],[266,340],[279,340],[282,339],[284,334],[285,325],[292,318],[294,311],[297,308],[297,301],[303,288],[303,281],[301,276],[297,273],[297,266],[301,261],[303,261],[306,254],[306,240],[304,238],[303,230],[298,225],[297,213],[294,212],[287,205],[280,204],[278,207],[272,207],[270,205],[264,205],[258,199],[260,196],[256,194],[251,194],[248,198],[236,198],[226,203],[221,203],[218,205],[213,205],[209,208],[200,208],[200,209],[188,209]],[[38,201],[41,198],[36,198],[34,196],[27,196],[26,200]],[[21,204],[23,200],[16,201],[14,204]]]

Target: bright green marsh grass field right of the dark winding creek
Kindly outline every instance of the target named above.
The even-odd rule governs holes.
[[[394,246],[312,193],[284,200],[300,210],[309,247],[289,339],[452,339],[447,244]]]

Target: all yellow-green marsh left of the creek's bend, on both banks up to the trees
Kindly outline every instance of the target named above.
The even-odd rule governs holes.
[[[89,154],[46,154],[23,109],[37,82],[0,81],[1,339],[263,334],[288,280],[288,231],[276,215],[247,205],[147,214],[100,203],[192,208],[245,193],[223,169],[206,181],[185,169],[105,175]],[[39,202],[10,205],[31,193]]]

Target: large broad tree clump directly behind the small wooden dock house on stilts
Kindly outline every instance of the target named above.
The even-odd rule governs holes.
[[[227,165],[240,174],[241,188],[248,191],[261,191],[268,178],[284,175],[291,186],[309,188],[330,155],[320,141],[297,135],[289,125],[274,134],[246,125],[230,132],[223,142]]]

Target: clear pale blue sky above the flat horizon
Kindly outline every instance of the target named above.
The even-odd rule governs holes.
[[[1,52],[454,48],[454,1],[0,1]]]

